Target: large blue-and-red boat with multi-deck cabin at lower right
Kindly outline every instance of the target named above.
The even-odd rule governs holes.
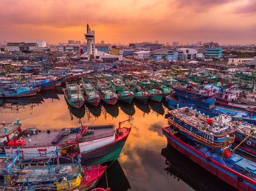
[[[170,126],[162,128],[168,144],[236,189],[256,190],[256,163],[231,149],[232,117],[210,118],[187,107],[169,113]]]

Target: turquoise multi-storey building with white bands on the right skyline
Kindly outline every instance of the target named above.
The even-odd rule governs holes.
[[[219,59],[222,57],[222,47],[216,42],[207,42],[203,44],[206,48],[205,59],[211,61],[213,58]]]

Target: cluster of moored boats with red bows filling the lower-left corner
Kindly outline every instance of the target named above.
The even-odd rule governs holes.
[[[107,168],[100,164],[118,159],[131,130],[83,123],[23,130],[20,120],[0,125],[1,187],[20,190],[92,189]]]

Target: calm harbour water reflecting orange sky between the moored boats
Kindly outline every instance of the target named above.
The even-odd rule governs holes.
[[[85,106],[72,109],[60,89],[45,91],[37,97],[0,100],[0,120],[20,118],[23,128],[70,128],[84,124],[114,123],[128,120],[131,126],[118,161],[108,164],[98,187],[113,190],[233,190],[188,160],[172,147],[167,147],[162,127],[167,125],[166,104],[149,102],[116,106]]]

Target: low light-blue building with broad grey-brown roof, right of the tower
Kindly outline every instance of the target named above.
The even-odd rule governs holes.
[[[151,52],[151,57],[155,61],[167,60],[167,61],[178,61],[178,52],[175,50],[161,48]]]

